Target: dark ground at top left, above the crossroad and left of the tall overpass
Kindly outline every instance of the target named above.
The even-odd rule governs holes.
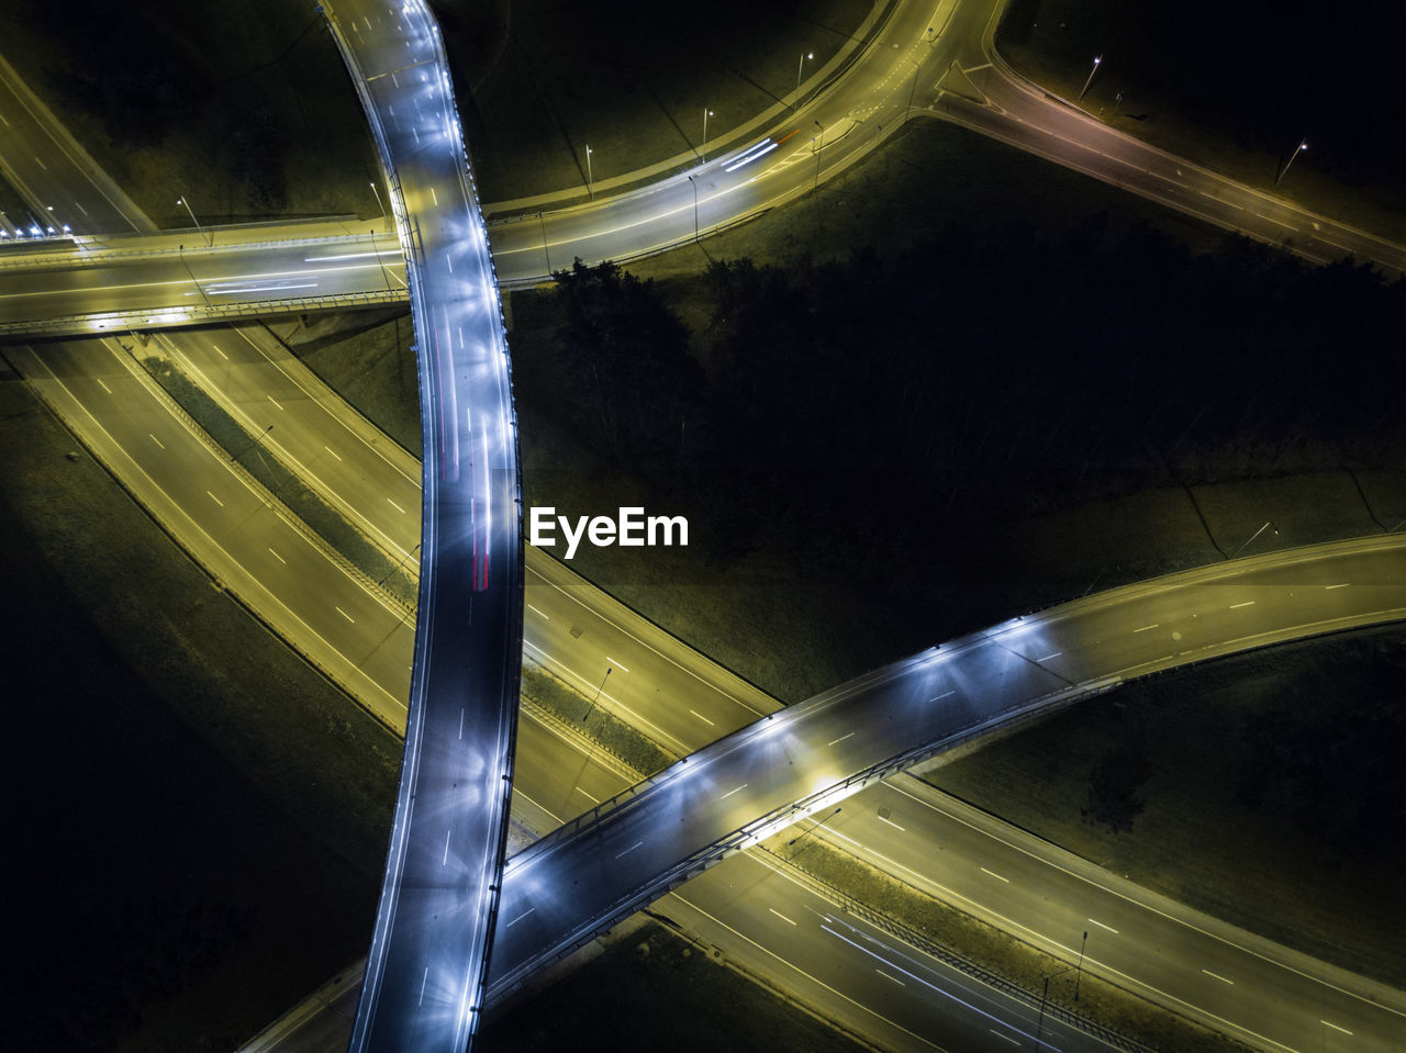
[[[6,58],[157,225],[375,212],[374,156],[315,4],[20,0]],[[73,217],[77,226],[80,217]]]

